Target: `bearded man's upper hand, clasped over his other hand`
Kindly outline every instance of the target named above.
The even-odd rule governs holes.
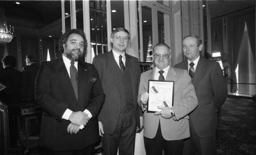
[[[88,114],[83,113],[83,112],[72,112],[72,114],[69,117],[69,121],[73,123],[74,125],[84,125],[88,123],[90,118],[88,117]]]

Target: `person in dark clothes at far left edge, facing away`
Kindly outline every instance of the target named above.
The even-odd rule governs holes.
[[[0,91],[0,99],[8,106],[10,147],[16,148],[18,127],[15,107],[17,104],[22,103],[22,73],[14,69],[17,65],[17,60],[14,56],[5,56],[2,59],[2,63],[4,69],[0,70],[0,82],[7,87]]]

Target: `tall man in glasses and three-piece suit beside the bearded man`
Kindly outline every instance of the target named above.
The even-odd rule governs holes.
[[[99,114],[99,134],[104,155],[134,154],[136,127],[140,127],[137,104],[140,67],[137,58],[125,53],[130,33],[117,28],[111,34],[113,49],[93,59],[106,95]]]

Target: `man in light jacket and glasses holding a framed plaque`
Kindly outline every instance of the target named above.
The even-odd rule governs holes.
[[[170,48],[165,43],[158,43],[153,48],[153,60],[154,70],[141,74],[138,96],[138,104],[144,110],[146,154],[162,154],[162,147],[165,154],[182,154],[183,141],[190,136],[187,115],[198,105],[194,86],[186,70],[170,66]],[[155,81],[155,85],[148,88],[150,81]],[[168,96],[164,93],[156,95],[156,100],[151,102],[150,94],[161,93],[164,82],[174,83],[169,90],[163,91],[169,92]],[[169,96],[173,98],[165,100]],[[157,101],[159,110],[148,110]]]

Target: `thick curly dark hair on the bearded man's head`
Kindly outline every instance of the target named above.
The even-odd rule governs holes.
[[[82,30],[72,29],[72,30],[69,30],[69,31],[65,32],[64,34],[62,34],[62,36],[60,36],[60,38],[59,38],[59,51],[61,53],[63,53],[63,51],[64,51],[63,44],[67,43],[67,40],[68,40],[69,36],[73,33],[79,34],[79,35],[82,36],[83,42],[84,42],[84,49],[83,50],[84,50],[84,52],[86,52],[86,49],[87,49],[86,34],[84,34],[84,32]]]

